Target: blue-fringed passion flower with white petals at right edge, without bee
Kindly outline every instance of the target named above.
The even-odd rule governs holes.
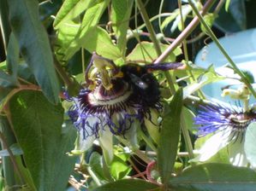
[[[199,136],[212,136],[205,141],[193,161],[203,162],[222,148],[227,148],[231,164],[247,166],[245,134],[247,126],[255,119],[253,109],[244,112],[241,107],[223,107],[218,104],[201,107],[194,124],[199,125]]]

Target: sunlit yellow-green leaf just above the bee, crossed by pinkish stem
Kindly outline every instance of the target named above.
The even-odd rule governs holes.
[[[160,48],[162,52],[164,52],[164,50],[167,49],[168,47],[169,45],[166,45],[163,43],[160,44]],[[182,49],[178,47],[164,60],[164,62],[176,61],[176,56],[181,54],[182,54]],[[147,63],[152,63],[152,61],[156,60],[157,58],[158,58],[158,55],[154,48],[154,44],[144,41],[136,45],[133,51],[127,56],[127,61],[131,61],[131,62],[146,61]]]

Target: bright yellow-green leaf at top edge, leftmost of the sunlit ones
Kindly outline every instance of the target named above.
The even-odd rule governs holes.
[[[53,22],[55,29],[58,29],[63,23],[68,20],[74,20],[83,11],[90,8],[95,1],[93,0],[66,0],[62,8],[58,11]]]

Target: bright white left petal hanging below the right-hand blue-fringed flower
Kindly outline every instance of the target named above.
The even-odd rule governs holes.
[[[199,149],[199,156],[197,156],[192,161],[204,162],[210,159],[219,150],[226,147],[229,144],[229,135],[231,133],[231,128],[227,130],[218,131],[216,134],[211,136],[202,148]]]

